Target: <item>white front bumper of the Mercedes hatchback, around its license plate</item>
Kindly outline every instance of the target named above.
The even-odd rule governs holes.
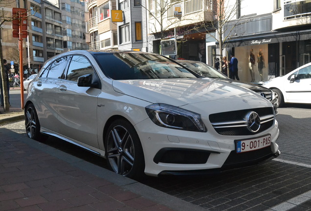
[[[213,128],[208,128],[207,132],[169,129],[155,126],[150,119],[135,125],[135,129],[144,151],[145,173],[152,176],[220,172],[256,165],[278,156],[278,145],[275,143],[279,136],[277,121],[269,129],[252,136],[224,136]],[[271,134],[269,147],[236,156],[234,140],[253,139],[267,133]],[[173,150],[175,154],[165,155],[168,150]],[[178,150],[184,150],[184,153]],[[190,157],[189,163],[184,162],[187,156]]]

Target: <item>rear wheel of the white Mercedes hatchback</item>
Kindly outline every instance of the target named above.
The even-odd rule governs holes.
[[[40,139],[43,138],[43,135],[40,132],[40,123],[37,111],[33,104],[29,104],[25,108],[25,127],[29,138],[37,141],[40,141]]]

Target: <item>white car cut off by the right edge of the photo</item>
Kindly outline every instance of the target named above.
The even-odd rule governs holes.
[[[311,63],[267,81],[263,86],[276,93],[279,106],[284,103],[311,104]]]

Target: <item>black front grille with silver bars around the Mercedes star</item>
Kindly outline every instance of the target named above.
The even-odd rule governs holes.
[[[246,114],[250,111],[255,111],[260,117],[261,124],[257,132],[251,132],[247,129]],[[209,120],[214,129],[221,135],[254,135],[273,126],[274,113],[272,107],[245,109],[211,114]]]

